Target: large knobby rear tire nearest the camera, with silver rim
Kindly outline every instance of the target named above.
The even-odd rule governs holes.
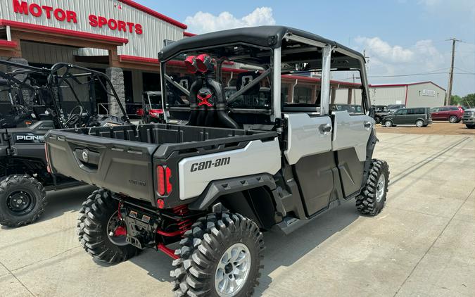
[[[179,245],[175,254],[181,258],[173,261],[175,269],[170,272],[176,296],[223,296],[218,291],[220,285],[226,287],[226,277],[229,277],[228,282],[237,279],[242,284],[236,286],[239,291],[232,292],[232,296],[252,296],[258,285],[259,271],[263,267],[260,260],[265,250],[262,233],[255,222],[239,214],[210,214],[198,219]],[[226,255],[234,250],[241,252],[235,254],[239,257],[232,258],[232,264],[229,264]],[[245,261],[244,255],[248,256],[249,262]],[[224,267],[220,263],[228,265]],[[247,277],[234,274],[234,271],[243,273],[245,270]]]

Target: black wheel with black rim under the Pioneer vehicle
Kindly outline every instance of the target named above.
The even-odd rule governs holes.
[[[20,227],[38,220],[46,207],[46,191],[30,175],[0,180],[0,225]]]

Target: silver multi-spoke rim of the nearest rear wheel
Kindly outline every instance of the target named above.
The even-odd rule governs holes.
[[[246,284],[251,271],[251,253],[244,244],[230,246],[217,264],[215,289],[219,296],[235,296]]]

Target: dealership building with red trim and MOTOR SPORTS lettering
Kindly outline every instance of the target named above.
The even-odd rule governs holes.
[[[160,89],[158,51],[164,40],[192,35],[185,30],[177,20],[130,0],[0,1],[0,57],[106,72],[129,113],[144,90]],[[96,101],[109,108],[105,94]]]

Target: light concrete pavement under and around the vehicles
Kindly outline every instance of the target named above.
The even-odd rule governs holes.
[[[265,234],[256,296],[475,296],[475,137],[378,137],[391,170],[383,212],[363,217],[350,202],[290,236]],[[80,248],[90,191],[49,193],[39,222],[0,229],[0,296],[172,296],[163,253],[110,266]]]

